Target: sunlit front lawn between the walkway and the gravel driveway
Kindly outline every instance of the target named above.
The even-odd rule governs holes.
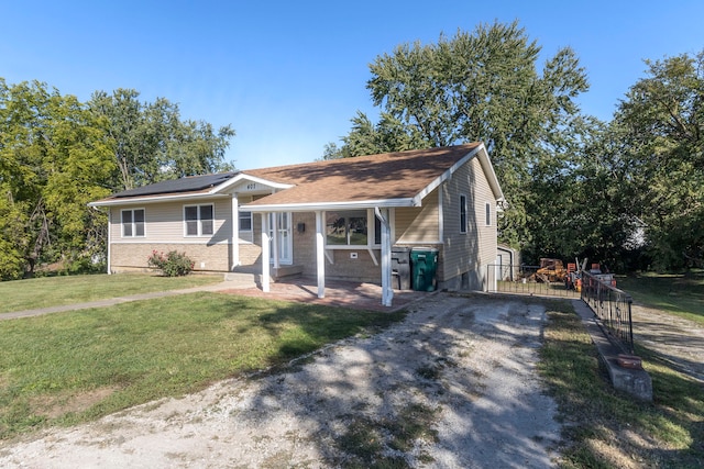
[[[0,438],[290,359],[403,313],[194,293],[0,322]]]

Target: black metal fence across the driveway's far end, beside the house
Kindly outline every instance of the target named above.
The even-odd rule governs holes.
[[[486,268],[486,291],[540,297],[580,298],[564,279],[537,275],[539,266],[492,264]]]

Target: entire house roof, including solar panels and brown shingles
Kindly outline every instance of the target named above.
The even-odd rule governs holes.
[[[272,168],[250,169],[221,175],[206,175],[165,181],[124,191],[90,205],[116,205],[166,199],[188,199],[215,194],[224,196],[232,183],[246,178],[257,178],[265,183],[278,183],[286,189],[263,197],[246,206],[253,211],[268,208],[305,210],[315,205],[351,204],[370,206],[403,206],[419,202],[421,192],[439,182],[454,165],[481,143],[449,147],[385,153]],[[497,199],[503,198],[491,163],[485,152],[480,153],[485,171],[491,172]],[[205,182],[204,182],[205,181]],[[217,181],[216,183],[210,183]],[[208,185],[204,186],[206,182]],[[289,186],[289,187],[288,187]],[[424,196],[425,197],[425,196]]]

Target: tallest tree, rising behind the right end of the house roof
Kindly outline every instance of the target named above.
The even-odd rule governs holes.
[[[570,48],[538,66],[541,48],[518,23],[480,25],[437,44],[405,44],[378,56],[367,82],[381,120],[363,113],[323,158],[482,141],[508,200],[501,236],[515,246],[526,226],[527,182],[538,161],[579,114],[574,99],[587,89]]]

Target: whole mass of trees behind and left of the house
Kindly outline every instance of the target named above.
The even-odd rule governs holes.
[[[0,78],[0,279],[35,265],[85,268],[105,257],[107,216],[87,203],[163,179],[230,169],[234,132],[183,121],[134,90],[89,103],[43,82]]]

